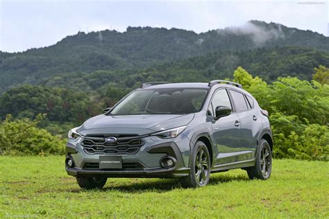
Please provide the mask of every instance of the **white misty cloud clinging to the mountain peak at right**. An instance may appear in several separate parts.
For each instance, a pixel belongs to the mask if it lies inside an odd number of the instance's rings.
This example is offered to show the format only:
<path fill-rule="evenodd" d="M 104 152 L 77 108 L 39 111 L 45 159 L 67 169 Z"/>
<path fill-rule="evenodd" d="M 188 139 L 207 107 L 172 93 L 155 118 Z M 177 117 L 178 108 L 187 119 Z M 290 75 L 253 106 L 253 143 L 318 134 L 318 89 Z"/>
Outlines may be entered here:
<path fill-rule="evenodd" d="M 280 24 L 260 26 L 254 24 L 253 21 L 248 21 L 242 26 L 231 26 L 219 29 L 217 33 L 221 35 L 249 36 L 257 46 L 262 46 L 268 40 L 282 39 L 285 37 Z"/>

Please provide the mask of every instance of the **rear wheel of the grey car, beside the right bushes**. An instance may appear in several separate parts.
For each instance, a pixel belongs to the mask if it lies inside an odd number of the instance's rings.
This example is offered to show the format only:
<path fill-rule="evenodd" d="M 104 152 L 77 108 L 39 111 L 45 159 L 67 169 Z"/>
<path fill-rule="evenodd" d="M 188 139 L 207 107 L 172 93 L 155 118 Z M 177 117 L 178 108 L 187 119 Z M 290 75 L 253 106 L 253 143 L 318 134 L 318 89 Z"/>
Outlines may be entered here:
<path fill-rule="evenodd" d="M 249 179 L 269 179 L 272 170 L 272 152 L 267 140 L 258 146 L 255 166 L 246 168 Z"/>

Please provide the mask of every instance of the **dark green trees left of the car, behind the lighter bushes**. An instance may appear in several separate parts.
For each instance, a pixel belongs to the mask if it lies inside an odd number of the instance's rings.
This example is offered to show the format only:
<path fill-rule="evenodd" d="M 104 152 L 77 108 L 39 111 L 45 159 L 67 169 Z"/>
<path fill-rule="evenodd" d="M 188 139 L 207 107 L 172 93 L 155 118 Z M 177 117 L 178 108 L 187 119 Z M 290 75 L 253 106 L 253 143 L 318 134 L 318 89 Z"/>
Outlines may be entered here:
<path fill-rule="evenodd" d="M 99 114 L 102 108 L 98 100 L 78 91 L 32 85 L 6 91 L 0 97 L 0 105 L 1 115 L 33 119 L 37 114 L 47 113 L 49 121 L 75 125 Z"/>

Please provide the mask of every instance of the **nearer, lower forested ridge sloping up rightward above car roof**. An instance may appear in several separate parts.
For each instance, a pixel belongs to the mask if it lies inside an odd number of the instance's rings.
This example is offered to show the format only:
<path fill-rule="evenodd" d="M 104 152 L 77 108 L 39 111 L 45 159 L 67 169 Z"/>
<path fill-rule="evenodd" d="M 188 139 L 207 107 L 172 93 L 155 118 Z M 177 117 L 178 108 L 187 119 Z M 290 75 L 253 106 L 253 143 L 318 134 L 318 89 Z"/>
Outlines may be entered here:
<path fill-rule="evenodd" d="M 246 51 L 217 51 L 207 55 L 153 64 L 130 71 L 98 70 L 92 73 L 58 74 L 40 85 L 99 92 L 108 87 L 138 87 L 146 81 L 200 82 L 232 78 L 237 67 L 267 82 L 292 76 L 312 79 L 314 67 L 329 66 L 329 53 L 299 46 L 275 46 Z"/>

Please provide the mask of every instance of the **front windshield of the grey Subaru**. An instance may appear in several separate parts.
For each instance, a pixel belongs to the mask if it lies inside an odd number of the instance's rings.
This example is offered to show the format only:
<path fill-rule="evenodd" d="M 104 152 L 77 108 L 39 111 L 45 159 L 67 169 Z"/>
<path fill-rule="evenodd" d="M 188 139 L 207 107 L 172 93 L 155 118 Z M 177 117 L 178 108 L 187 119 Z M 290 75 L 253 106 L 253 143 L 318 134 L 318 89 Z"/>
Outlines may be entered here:
<path fill-rule="evenodd" d="M 207 89 L 140 89 L 133 91 L 110 112 L 130 114 L 189 114 L 199 112 Z"/>

